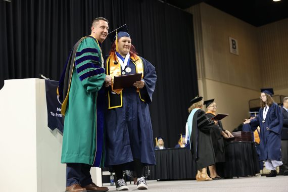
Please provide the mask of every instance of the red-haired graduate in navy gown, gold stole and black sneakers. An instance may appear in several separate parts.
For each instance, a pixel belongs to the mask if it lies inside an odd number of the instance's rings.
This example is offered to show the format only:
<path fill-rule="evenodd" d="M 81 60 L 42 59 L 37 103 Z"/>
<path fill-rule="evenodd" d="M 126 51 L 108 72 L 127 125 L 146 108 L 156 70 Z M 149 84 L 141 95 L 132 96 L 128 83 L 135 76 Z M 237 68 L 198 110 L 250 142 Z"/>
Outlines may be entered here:
<path fill-rule="evenodd" d="M 139 57 L 131 44 L 126 25 L 109 33 L 112 47 L 105 61 L 106 74 L 114 76 L 142 73 L 133 86 L 114 89 L 107 83 L 106 166 L 112 166 L 117 177 L 116 189 L 127 190 L 124 170 L 135 170 L 137 189 L 147 189 L 143 176 L 145 165 L 155 165 L 149 104 L 156 84 L 155 67 Z M 111 86 L 110 86 L 111 85 Z"/>

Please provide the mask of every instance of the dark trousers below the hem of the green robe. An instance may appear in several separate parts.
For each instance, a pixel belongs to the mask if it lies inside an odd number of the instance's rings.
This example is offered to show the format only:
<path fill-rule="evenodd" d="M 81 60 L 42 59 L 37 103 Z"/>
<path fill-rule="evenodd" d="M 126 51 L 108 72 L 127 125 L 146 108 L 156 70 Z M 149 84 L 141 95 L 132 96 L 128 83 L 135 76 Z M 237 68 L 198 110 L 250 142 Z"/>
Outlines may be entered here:
<path fill-rule="evenodd" d="M 66 186 L 72 184 L 80 184 L 86 186 L 92 183 L 90 175 L 91 166 L 83 163 L 67 163 L 66 164 Z"/>

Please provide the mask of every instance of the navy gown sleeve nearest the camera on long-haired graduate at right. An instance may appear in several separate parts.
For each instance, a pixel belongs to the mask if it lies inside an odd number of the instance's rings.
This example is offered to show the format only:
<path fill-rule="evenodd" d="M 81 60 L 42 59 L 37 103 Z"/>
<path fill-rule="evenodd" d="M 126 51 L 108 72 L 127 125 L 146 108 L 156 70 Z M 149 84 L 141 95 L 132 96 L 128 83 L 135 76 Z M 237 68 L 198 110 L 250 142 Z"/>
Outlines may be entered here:
<path fill-rule="evenodd" d="M 272 121 L 270 121 L 268 128 L 274 133 L 281 134 L 281 129 L 283 125 L 282 112 L 280 111 L 280 107 L 277 104 L 273 104 L 271 108 L 272 109 L 270 112 L 270 118 L 272 119 Z"/>

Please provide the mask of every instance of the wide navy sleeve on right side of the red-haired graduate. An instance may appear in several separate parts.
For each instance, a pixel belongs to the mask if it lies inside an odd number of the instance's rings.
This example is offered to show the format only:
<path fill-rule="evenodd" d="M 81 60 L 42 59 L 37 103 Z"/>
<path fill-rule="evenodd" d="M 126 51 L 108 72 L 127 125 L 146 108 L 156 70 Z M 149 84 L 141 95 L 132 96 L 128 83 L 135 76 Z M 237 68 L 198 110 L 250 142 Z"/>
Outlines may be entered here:
<path fill-rule="evenodd" d="M 156 71 L 155 67 L 146 59 L 141 58 L 144 66 L 144 77 L 145 86 L 140 89 L 141 97 L 148 103 L 152 103 L 152 94 L 155 90 L 156 85 Z"/>

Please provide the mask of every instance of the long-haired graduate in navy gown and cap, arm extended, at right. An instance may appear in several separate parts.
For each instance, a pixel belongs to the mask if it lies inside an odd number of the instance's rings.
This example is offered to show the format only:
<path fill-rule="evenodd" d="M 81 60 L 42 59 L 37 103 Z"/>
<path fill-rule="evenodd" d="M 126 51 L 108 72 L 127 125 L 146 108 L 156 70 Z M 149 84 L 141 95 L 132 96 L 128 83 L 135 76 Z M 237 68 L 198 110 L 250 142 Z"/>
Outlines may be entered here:
<path fill-rule="evenodd" d="M 260 126 L 260 161 L 265 161 L 265 168 L 271 170 L 266 177 L 277 175 L 277 166 L 282 165 L 281 161 L 281 129 L 283 124 L 280 107 L 273 101 L 272 88 L 261 89 L 259 115 L 255 119 L 245 119 L 251 123 L 251 127 Z M 255 131 L 255 130 L 253 130 Z"/>

